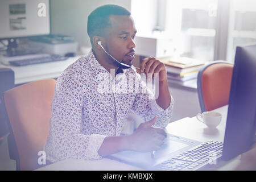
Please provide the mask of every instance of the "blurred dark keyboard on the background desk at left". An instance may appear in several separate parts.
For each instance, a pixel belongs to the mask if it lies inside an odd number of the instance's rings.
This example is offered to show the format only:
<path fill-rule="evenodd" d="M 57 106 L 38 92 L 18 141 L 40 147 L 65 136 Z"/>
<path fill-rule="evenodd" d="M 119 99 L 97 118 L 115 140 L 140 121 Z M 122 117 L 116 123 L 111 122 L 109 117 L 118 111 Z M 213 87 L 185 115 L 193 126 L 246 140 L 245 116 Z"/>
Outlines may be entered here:
<path fill-rule="evenodd" d="M 68 57 L 60 56 L 60 55 L 47 55 L 47 56 L 40 56 L 40 57 L 33 57 L 29 59 L 19 59 L 9 61 L 10 65 L 14 65 L 16 67 L 31 65 L 31 64 L 40 64 L 40 63 L 49 63 L 54 61 L 63 61 L 67 60 Z"/>

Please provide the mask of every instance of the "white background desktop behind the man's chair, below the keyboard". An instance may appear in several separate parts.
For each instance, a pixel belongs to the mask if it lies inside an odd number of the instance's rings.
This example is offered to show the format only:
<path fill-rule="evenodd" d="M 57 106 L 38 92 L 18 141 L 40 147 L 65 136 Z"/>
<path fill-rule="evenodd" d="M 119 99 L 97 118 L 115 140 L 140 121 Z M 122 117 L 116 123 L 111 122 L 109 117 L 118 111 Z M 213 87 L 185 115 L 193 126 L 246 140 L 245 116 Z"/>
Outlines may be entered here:
<path fill-rule="evenodd" d="M 26 65 L 23 67 L 14 67 L 11 65 L 3 65 L 0 63 L 0 67 L 13 69 L 14 82 L 16 85 L 36 80 L 43 80 L 47 78 L 57 78 L 69 65 L 79 59 L 79 57 L 80 56 L 69 57 L 67 60 L 64 61 Z"/>

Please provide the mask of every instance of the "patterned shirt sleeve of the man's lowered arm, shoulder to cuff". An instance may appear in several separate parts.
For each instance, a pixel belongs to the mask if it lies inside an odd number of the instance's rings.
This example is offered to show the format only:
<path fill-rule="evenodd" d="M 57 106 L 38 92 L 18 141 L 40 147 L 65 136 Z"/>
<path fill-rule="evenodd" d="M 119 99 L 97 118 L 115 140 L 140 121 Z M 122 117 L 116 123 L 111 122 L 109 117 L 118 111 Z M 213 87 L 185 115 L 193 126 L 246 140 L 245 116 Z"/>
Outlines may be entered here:
<path fill-rule="evenodd" d="M 86 102 L 82 81 L 73 73 L 60 77 L 52 101 L 51 124 L 44 150 L 47 159 L 101 159 L 98 149 L 105 135 L 81 133 L 82 106 Z"/>

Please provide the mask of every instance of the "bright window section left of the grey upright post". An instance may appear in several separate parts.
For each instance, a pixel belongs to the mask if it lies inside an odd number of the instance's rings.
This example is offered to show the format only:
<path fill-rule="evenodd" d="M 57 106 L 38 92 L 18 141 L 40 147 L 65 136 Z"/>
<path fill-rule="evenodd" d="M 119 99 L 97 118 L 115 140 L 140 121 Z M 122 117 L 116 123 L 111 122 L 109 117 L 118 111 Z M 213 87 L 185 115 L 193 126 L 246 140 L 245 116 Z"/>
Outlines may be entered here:
<path fill-rule="evenodd" d="M 166 3 L 168 13 L 165 31 L 175 35 L 177 55 L 213 60 L 217 0 L 171 0 Z"/>

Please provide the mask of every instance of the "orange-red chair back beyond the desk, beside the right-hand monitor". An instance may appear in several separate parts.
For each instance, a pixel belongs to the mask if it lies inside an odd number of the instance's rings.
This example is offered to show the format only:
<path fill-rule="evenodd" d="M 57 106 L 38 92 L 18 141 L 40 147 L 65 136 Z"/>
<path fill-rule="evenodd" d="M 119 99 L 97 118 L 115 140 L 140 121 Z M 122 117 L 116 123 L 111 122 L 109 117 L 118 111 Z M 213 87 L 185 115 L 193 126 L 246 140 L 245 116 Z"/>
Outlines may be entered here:
<path fill-rule="evenodd" d="M 214 61 L 200 69 L 197 93 L 202 113 L 228 104 L 232 72 L 233 64 L 226 61 Z"/>

